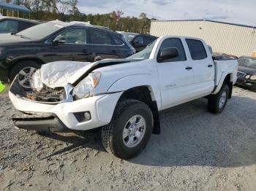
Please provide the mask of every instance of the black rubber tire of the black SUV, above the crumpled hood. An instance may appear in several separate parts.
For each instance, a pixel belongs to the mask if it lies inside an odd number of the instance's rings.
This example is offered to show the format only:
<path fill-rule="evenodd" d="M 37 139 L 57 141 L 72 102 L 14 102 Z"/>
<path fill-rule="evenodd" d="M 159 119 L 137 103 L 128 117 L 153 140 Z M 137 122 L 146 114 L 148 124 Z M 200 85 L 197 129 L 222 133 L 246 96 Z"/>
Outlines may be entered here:
<path fill-rule="evenodd" d="M 39 69 L 41 68 L 41 65 L 35 61 L 20 61 L 12 67 L 12 70 L 10 71 L 10 80 L 12 81 L 15 79 L 17 74 L 26 67 L 34 67 L 35 69 Z"/>

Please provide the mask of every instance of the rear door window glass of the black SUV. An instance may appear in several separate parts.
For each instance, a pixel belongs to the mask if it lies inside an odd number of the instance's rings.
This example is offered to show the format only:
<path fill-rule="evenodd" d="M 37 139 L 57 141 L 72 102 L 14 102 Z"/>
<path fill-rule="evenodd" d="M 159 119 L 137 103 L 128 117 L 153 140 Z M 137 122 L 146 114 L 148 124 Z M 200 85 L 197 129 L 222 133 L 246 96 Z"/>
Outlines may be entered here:
<path fill-rule="evenodd" d="M 99 30 L 91 29 L 91 44 L 112 44 L 110 35 Z"/>

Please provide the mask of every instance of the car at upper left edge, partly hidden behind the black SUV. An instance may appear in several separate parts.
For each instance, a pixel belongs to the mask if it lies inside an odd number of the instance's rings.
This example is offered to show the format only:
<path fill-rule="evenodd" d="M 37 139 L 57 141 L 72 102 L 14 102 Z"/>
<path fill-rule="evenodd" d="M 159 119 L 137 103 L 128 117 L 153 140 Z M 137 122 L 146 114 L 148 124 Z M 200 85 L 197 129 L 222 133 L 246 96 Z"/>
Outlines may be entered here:
<path fill-rule="evenodd" d="M 31 26 L 36 26 L 39 23 L 40 22 L 37 20 L 0 16 L 0 34 L 18 33 Z"/>

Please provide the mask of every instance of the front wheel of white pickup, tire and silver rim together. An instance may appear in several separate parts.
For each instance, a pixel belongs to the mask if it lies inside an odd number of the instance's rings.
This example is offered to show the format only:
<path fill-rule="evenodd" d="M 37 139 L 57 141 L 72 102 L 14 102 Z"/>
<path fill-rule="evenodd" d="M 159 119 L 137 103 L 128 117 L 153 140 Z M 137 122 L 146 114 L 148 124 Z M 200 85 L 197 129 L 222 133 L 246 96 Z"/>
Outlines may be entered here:
<path fill-rule="evenodd" d="M 141 101 L 118 102 L 110 124 L 102 128 L 105 149 L 121 159 L 138 155 L 148 143 L 153 130 L 151 109 Z"/>

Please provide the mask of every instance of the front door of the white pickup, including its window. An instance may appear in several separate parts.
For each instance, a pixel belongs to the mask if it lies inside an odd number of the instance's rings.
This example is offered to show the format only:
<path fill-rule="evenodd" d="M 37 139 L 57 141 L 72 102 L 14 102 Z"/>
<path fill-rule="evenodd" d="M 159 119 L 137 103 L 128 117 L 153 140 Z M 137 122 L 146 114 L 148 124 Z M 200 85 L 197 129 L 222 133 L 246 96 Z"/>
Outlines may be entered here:
<path fill-rule="evenodd" d="M 191 63 L 187 61 L 184 43 L 183 39 L 168 38 L 164 39 L 159 47 L 158 56 L 161 50 L 167 47 L 175 47 L 178 50 L 177 58 L 157 63 L 162 109 L 192 98 L 190 93 L 193 89 L 193 69 Z"/>

